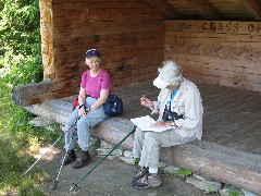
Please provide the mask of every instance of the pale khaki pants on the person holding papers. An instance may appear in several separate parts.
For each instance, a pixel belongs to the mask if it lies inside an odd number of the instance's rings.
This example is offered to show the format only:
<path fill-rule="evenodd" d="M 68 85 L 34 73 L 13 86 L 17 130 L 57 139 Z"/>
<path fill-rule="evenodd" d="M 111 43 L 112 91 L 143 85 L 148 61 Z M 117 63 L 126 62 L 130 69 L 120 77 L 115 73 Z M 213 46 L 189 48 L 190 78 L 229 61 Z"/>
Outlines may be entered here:
<path fill-rule="evenodd" d="M 175 130 L 164 132 L 144 132 L 136 128 L 134 158 L 140 158 L 140 167 L 157 169 L 159 167 L 160 147 L 171 147 L 196 140 L 196 136 L 182 137 L 175 133 Z"/>

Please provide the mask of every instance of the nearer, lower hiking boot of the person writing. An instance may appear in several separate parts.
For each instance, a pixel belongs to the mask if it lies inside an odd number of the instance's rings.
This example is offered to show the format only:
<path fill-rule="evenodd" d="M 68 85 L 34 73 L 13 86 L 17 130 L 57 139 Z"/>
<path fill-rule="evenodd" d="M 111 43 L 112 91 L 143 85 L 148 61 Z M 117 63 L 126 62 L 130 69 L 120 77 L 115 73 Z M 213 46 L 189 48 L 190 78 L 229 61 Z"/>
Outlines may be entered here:
<path fill-rule="evenodd" d="M 142 176 L 141 179 L 133 181 L 132 185 L 133 185 L 133 187 L 135 187 L 137 189 L 157 187 L 157 186 L 161 185 L 161 180 L 158 175 L 154 176 L 151 173 L 148 173 L 145 176 Z"/>

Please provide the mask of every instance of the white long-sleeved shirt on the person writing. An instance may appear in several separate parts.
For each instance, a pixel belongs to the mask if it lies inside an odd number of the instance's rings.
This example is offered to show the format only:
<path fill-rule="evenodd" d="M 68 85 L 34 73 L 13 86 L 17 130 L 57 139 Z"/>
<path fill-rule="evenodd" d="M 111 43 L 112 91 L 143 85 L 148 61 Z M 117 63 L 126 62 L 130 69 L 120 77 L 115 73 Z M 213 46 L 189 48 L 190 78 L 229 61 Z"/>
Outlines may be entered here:
<path fill-rule="evenodd" d="M 159 120 L 162 119 L 166 101 L 171 99 L 172 90 L 161 89 L 158 101 L 153 101 L 154 109 L 152 113 L 159 113 Z M 183 114 L 184 119 L 175 120 L 177 125 L 174 131 L 182 137 L 196 137 L 200 140 L 202 137 L 202 118 L 203 106 L 202 99 L 197 86 L 184 78 L 177 94 L 171 102 L 171 111 L 178 115 Z"/>

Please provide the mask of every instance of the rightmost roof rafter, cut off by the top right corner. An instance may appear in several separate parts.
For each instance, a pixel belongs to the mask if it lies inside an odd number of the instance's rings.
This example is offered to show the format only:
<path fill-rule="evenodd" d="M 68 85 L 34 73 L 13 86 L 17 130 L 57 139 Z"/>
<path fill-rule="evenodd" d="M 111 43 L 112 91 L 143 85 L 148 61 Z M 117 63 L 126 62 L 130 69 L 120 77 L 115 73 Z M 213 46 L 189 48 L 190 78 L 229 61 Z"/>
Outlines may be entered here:
<path fill-rule="evenodd" d="M 260 0 L 241 0 L 246 9 L 252 14 L 256 21 L 261 21 L 261 1 Z"/>

